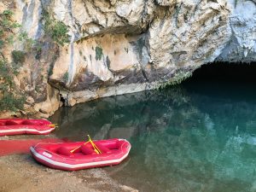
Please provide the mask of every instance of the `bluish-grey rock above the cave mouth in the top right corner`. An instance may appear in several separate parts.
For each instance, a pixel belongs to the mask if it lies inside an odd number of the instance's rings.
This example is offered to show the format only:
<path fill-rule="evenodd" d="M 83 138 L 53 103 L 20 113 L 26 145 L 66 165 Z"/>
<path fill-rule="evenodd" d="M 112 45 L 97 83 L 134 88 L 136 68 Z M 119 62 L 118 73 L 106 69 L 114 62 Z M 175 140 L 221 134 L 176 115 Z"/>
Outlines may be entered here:
<path fill-rule="evenodd" d="M 218 61 L 256 61 L 256 4 L 238 1 L 230 15 L 232 36 Z"/>

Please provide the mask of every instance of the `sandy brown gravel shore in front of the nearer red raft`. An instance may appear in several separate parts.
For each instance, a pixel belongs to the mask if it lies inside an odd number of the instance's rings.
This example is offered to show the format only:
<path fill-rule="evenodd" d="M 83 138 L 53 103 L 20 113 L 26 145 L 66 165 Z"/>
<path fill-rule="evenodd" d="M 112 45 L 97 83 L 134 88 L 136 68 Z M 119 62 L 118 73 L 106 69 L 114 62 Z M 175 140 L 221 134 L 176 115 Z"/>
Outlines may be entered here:
<path fill-rule="evenodd" d="M 136 192 L 137 190 L 117 183 L 102 168 L 64 172 L 38 164 L 30 154 L 12 154 L 0 157 L 0 191 Z"/>

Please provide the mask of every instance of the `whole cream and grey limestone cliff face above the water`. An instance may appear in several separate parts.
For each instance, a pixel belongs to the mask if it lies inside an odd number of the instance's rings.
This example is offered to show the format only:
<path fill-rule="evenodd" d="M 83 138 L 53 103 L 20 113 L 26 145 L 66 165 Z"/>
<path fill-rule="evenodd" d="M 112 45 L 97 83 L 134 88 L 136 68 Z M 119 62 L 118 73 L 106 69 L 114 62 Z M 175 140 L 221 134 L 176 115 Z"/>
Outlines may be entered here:
<path fill-rule="evenodd" d="M 17 79 L 24 113 L 173 84 L 207 62 L 256 60 L 254 1 L 14 0 L 0 9 L 14 9 L 43 44 Z M 49 40 L 43 10 L 68 26 L 70 44 Z"/>

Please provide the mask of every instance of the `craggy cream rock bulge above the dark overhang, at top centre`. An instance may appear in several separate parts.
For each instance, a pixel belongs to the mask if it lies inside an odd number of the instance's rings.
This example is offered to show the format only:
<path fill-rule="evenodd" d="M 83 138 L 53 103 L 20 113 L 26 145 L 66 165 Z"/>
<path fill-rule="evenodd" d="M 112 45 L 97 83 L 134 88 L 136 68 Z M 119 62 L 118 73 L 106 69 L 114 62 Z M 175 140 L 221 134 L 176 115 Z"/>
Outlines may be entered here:
<path fill-rule="evenodd" d="M 46 1 L 43 1 L 46 2 Z M 141 33 L 146 31 L 153 19 L 154 2 L 74 0 L 51 3 L 53 15 L 70 26 L 75 33 L 75 40 L 106 33 Z M 56 6 L 61 4 L 61 6 Z M 44 3 L 45 9 L 48 3 Z"/>

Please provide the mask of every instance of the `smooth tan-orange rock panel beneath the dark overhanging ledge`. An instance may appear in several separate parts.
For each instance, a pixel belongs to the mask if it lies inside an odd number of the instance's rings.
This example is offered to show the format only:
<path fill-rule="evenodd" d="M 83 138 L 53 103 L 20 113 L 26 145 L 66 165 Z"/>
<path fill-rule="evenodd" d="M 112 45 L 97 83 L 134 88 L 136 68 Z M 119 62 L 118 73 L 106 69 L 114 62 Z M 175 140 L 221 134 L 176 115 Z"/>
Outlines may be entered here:
<path fill-rule="evenodd" d="M 128 73 L 139 70 L 137 53 L 130 43 L 136 37 L 132 38 L 134 37 L 125 38 L 124 34 L 106 34 L 74 43 L 73 62 L 76 71 L 71 84 L 64 77 L 65 73 L 72 73 L 68 71 L 69 49 L 61 49 L 50 80 L 60 81 L 73 91 L 96 90 L 104 82 L 106 86 L 114 84 Z"/>

